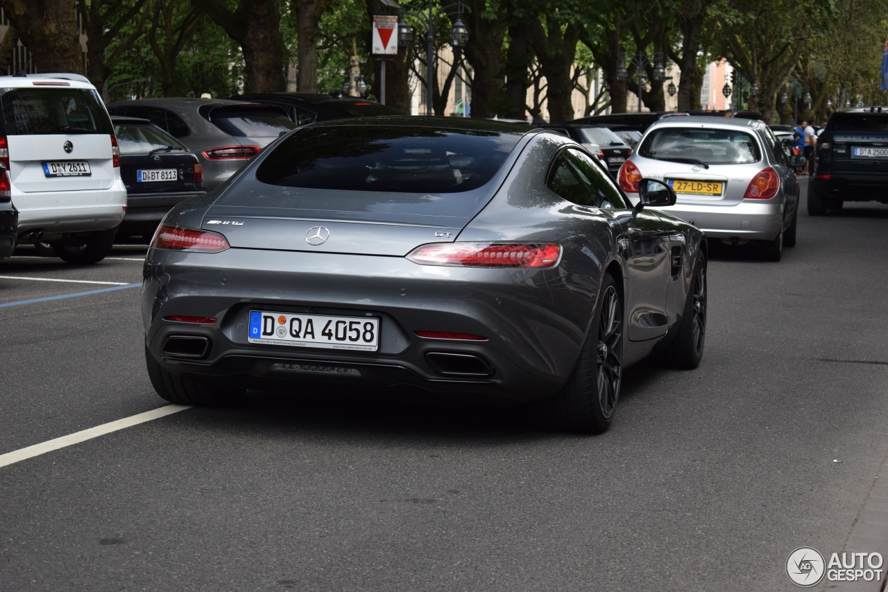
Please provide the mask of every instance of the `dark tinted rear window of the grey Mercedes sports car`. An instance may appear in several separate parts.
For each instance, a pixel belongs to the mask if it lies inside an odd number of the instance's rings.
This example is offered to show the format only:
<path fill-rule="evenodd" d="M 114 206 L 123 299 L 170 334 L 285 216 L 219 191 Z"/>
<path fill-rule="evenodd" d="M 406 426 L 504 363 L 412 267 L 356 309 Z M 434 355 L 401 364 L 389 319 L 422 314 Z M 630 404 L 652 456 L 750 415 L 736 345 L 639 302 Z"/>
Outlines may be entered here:
<path fill-rule="evenodd" d="M 256 178 L 294 188 L 457 193 L 491 180 L 518 134 L 354 125 L 300 129 L 259 165 Z"/>

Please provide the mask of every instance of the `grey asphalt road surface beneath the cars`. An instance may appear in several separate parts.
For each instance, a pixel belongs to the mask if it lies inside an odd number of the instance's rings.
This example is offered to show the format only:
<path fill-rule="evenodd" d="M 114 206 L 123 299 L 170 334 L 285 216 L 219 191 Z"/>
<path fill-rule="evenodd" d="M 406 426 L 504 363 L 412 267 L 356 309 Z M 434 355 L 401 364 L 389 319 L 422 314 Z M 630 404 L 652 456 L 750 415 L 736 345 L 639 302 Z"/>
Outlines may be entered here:
<path fill-rule="evenodd" d="M 714 249 L 702 365 L 630 369 L 603 436 L 311 389 L 0 467 L 0 590 L 793 590 L 795 548 L 886 553 L 886 229 L 803 204 L 780 263 Z M 0 262 L 0 455 L 165 406 L 143 253 Z"/>

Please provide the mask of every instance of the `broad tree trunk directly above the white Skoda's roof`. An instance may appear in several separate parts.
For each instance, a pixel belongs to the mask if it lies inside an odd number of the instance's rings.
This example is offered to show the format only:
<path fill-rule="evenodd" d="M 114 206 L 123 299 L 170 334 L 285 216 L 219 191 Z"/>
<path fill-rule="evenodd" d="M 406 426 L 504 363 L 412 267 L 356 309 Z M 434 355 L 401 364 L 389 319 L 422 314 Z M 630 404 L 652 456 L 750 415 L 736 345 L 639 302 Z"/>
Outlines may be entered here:
<path fill-rule="evenodd" d="M 76 0 L 0 0 L 38 72 L 83 73 Z M 39 51 L 36 51 L 39 48 Z"/>

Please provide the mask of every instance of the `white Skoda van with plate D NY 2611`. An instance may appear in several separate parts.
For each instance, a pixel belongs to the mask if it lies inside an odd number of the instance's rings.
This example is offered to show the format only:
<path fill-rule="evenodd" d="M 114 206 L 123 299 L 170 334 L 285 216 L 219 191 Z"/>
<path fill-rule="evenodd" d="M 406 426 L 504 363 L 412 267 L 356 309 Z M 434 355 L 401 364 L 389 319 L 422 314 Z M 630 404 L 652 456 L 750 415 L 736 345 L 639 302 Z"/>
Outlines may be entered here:
<path fill-rule="evenodd" d="M 18 243 L 68 263 L 103 260 L 126 212 L 120 150 L 85 76 L 0 76 L 0 163 L 19 210 Z"/>

